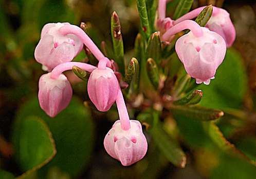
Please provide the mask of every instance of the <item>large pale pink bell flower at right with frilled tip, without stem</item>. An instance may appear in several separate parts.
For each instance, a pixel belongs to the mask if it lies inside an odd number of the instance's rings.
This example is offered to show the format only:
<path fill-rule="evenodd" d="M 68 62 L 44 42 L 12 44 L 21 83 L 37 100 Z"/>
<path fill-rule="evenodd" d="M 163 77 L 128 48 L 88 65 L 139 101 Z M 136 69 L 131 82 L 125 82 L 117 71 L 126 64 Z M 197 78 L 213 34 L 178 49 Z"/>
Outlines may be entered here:
<path fill-rule="evenodd" d="M 175 45 L 180 61 L 196 83 L 209 84 L 226 54 L 226 42 L 221 35 L 201 27 L 204 35 L 195 37 L 190 31 Z"/>

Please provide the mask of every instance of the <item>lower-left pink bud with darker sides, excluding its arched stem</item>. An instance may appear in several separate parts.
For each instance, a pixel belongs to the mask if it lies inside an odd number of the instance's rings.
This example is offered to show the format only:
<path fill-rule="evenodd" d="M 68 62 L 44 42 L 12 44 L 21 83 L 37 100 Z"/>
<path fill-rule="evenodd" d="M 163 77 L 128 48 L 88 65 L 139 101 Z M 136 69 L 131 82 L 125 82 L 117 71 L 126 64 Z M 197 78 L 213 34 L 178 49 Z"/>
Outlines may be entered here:
<path fill-rule="evenodd" d="M 72 97 L 72 88 L 66 76 L 61 74 L 56 80 L 50 78 L 51 73 L 39 79 L 39 103 L 50 117 L 55 117 L 65 109 Z"/>

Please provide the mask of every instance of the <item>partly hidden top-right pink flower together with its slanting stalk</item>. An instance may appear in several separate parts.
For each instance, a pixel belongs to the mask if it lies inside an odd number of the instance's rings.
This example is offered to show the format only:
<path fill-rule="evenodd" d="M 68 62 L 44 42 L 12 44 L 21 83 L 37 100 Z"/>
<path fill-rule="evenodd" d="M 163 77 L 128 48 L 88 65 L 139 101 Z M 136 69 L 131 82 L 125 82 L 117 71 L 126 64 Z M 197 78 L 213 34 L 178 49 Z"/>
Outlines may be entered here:
<path fill-rule="evenodd" d="M 173 25 L 197 17 L 204 8 L 205 7 L 197 8 L 184 16 L 181 16 L 173 22 Z M 224 38 L 227 48 L 232 46 L 235 40 L 235 28 L 230 19 L 230 15 L 226 10 L 213 6 L 212 16 L 206 24 L 206 27 L 208 27 L 210 31 L 220 34 Z"/>

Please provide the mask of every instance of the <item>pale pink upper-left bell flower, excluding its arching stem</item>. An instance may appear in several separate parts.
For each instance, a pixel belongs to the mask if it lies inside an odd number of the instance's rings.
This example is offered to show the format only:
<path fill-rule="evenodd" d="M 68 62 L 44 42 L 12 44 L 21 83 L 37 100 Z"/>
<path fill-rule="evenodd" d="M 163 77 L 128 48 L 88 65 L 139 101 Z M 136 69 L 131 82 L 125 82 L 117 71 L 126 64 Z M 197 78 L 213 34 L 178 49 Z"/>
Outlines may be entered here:
<path fill-rule="evenodd" d="M 63 36 L 59 29 L 70 26 L 69 23 L 46 24 L 41 32 L 41 39 L 34 51 L 35 60 L 51 70 L 63 62 L 71 61 L 83 49 L 83 42 L 74 34 Z"/>

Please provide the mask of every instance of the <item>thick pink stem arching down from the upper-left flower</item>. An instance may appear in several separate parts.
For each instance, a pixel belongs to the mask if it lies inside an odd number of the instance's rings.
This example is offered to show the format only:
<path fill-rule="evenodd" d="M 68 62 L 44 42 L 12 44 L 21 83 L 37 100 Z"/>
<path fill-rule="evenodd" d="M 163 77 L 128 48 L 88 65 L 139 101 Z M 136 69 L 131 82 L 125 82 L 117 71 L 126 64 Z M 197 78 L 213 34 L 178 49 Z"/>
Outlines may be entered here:
<path fill-rule="evenodd" d="M 94 54 L 94 56 L 100 60 L 101 58 L 105 57 L 102 52 L 98 49 L 96 44 L 93 42 L 90 37 L 79 27 L 75 25 L 67 25 L 63 26 L 59 29 L 60 34 L 67 35 L 67 34 L 74 34 L 78 36 L 82 40 L 82 42 L 85 44 L 85 46 Z"/>

